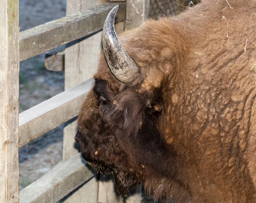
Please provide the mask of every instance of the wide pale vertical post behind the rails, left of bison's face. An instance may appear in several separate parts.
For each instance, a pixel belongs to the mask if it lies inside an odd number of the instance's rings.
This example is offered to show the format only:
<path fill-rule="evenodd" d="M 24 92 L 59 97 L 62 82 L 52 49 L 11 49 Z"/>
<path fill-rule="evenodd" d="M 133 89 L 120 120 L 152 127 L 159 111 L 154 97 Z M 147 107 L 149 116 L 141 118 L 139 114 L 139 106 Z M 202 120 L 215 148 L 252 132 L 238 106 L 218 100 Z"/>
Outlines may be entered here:
<path fill-rule="evenodd" d="M 83 11 L 100 4 L 100 0 L 67 0 L 67 15 Z M 96 72 L 101 51 L 101 32 L 94 34 L 65 50 L 65 90 L 90 79 Z M 76 121 L 64 128 L 63 160 L 77 153 L 74 136 Z M 96 203 L 98 200 L 98 181 L 91 179 L 71 195 L 65 203 Z"/>

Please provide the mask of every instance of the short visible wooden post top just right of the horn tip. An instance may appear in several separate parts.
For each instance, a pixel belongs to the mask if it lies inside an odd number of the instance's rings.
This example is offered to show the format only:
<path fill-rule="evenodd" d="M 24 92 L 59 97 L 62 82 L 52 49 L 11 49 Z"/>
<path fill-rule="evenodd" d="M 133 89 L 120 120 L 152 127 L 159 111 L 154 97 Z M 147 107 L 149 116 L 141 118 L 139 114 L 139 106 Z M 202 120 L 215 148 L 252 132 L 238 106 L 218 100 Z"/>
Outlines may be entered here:
<path fill-rule="evenodd" d="M 126 1 L 126 30 L 138 28 L 149 14 L 150 0 Z"/>

